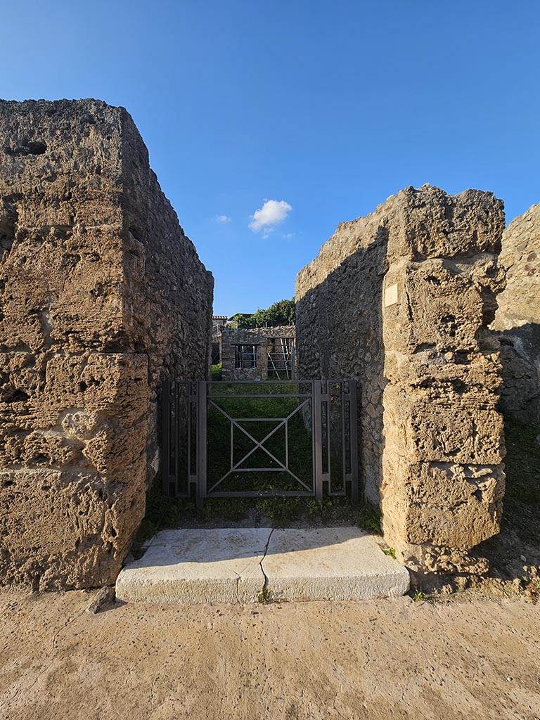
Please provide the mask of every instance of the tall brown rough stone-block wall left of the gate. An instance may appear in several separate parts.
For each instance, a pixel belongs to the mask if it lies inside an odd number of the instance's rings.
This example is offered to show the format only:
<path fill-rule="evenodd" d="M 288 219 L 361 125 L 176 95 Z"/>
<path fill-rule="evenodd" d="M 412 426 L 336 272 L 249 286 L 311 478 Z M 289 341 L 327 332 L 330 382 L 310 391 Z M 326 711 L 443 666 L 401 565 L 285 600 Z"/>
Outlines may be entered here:
<path fill-rule="evenodd" d="M 1 582 L 114 581 L 158 463 L 158 382 L 204 377 L 211 307 L 125 109 L 0 102 Z"/>

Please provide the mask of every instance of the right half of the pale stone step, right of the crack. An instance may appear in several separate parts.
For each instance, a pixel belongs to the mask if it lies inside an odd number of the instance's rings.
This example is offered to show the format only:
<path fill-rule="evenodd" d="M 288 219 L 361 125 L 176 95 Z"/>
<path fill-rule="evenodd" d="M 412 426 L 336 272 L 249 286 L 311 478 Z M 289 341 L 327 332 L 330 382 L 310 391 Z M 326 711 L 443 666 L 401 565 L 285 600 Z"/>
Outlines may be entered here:
<path fill-rule="evenodd" d="M 275 601 L 392 598 L 409 589 L 405 567 L 354 527 L 275 529 L 263 569 Z"/>

